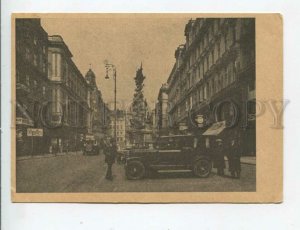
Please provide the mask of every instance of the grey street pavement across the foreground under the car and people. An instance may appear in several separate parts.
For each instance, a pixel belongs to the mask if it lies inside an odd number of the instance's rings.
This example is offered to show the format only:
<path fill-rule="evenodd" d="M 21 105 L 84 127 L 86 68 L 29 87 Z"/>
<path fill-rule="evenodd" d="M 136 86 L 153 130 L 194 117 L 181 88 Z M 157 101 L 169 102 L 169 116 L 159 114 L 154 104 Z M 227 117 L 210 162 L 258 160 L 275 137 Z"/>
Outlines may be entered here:
<path fill-rule="evenodd" d="M 164 172 L 138 181 L 127 180 L 124 167 L 113 165 L 113 181 L 105 179 L 104 156 L 80 152 L 17 160 L 17 192 L 227 192 L 255 191 L 255 164 L 242 164 L 241 179 L 196 178 L 190 172 Z M 229 175 L 226 171 L 226 175 Z"/>

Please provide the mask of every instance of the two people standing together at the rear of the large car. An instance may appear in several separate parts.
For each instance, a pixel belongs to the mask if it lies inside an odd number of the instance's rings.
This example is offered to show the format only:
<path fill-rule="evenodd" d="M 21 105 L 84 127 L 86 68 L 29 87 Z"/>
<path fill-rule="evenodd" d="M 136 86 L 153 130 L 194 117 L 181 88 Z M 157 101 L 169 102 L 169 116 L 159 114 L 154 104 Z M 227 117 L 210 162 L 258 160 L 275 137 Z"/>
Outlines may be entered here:
<path fill-rule="evenodd" d="M 216 140 L 216 147 L 213 154 L 213 165 L 217 169 L 219 176 L 224 176 L 226 168 L 225 159 L 227 157 L 229 164 L 229 172 L 233 178 L 240 178 L 241 160 L 240 150 L 235 139 L 231 140 L 227 146 L 224 146 L 222 139 Z"/>

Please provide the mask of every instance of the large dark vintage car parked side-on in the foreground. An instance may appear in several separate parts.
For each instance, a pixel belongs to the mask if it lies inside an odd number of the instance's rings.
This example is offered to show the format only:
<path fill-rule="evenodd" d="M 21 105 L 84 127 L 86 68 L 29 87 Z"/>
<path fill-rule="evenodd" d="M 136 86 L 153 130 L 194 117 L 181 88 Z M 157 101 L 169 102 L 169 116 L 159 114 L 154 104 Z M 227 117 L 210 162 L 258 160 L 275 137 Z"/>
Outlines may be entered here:
<path fill-rule="evenodd" d="M 201 142 L 192 135 L 161 136 L 152 149 L 132 149 L 125 159 L 126 177 L 137 180 L 164 170 L 190 170 L 197 177 L 208 177 L 212 162 Z"/>

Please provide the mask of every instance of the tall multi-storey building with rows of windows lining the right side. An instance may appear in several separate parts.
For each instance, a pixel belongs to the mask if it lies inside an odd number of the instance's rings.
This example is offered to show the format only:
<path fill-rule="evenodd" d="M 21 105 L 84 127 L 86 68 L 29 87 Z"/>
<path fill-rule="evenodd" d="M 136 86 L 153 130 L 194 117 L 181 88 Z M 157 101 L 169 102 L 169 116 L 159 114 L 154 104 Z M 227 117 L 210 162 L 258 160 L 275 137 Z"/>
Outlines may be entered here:
<path fill-rule="evenodd" d="M 255 153 L 255 19 L 197 18 L 184 33 L 167 81 L 171 128 L 201 135 L 225 121 L 225 141 Z"/>

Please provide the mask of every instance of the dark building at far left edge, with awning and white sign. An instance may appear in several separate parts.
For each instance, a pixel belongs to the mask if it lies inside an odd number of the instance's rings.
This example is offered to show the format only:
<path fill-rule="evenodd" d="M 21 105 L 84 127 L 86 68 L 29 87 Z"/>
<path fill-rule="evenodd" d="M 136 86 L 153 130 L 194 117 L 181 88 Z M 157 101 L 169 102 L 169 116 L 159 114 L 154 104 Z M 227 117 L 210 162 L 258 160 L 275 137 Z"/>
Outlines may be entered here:
<path fill-rule="evenodd" d="M 16 19 L 15 23 L 16 147 L 18 155 L 30 155 L 46 151 L 40 108 L 48 99 L 48 34 L 40 19 Z M 37 136 L 30 134 L 32 129 Z"/>

